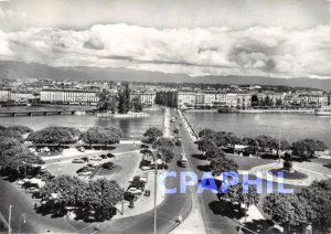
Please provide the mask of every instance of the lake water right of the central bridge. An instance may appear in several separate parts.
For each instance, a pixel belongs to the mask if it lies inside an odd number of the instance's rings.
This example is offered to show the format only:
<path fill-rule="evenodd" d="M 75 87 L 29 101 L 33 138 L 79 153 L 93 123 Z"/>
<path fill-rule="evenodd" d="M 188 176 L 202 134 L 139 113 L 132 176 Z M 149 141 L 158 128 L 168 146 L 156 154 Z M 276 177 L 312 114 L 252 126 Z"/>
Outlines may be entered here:
<path fill-rule="evenodd" d="M 269 135 L 290 142 L 303 138 L 314 138 L 325 142 L 331 149 L 331 116 L 310 114 L 220 114 L 185 113 L 199 132 L 203 128 L 232 131 L 241 137 Z"/>

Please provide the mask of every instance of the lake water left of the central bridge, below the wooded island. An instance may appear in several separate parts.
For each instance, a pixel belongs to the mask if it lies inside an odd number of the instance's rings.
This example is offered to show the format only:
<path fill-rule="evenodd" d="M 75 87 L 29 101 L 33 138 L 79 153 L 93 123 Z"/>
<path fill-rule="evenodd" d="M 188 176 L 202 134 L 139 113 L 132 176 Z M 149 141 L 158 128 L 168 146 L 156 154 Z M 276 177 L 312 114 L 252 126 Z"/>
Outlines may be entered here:
<path fill-rule="evenodd" d="M 18 108 L 18 107 L 14 107 Z M 26 107 L 23 107 L 26 109 Z M 2 109 L 2 108 L 1 108 Z M 33 107 L 33 109 L 36 109 Z M 50 108 L 49 108 L 50 109 Z M 4 110 L 4 109 L 2 109 Z M 118 127 L 124 132 L 124 139 L 140 139 L 149 127 L 163 126 L 163 110 L 148 111 L 149 117 L 143 118 L 102 118 L 94 115 L 74 116 L 18 116 L 18 117 L 0 117 L 0 125 L 7 127 L 11 125 L 24 125 L 33 130 L 39 130 L 49 126 L 76 127 L 79 130 L 86 130 L 89 127 Z"/>

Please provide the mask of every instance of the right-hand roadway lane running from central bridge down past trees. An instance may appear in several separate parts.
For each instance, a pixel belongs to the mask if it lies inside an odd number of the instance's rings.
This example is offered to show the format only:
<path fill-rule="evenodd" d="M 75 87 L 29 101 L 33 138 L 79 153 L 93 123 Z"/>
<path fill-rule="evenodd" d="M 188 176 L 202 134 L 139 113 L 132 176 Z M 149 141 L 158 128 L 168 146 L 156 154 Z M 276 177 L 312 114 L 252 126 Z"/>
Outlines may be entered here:
<path fill-rule="evenodd" d="M 178 116 L 178 115 L 177 115 Z M 201 178 L 203 171 L 197 169 L 201 166 L 206 166 L 205 160 L 197 159 L 196 155 L 201 152 L 197 150 L 197 146 L 191 140 L 188 130 L 185 129 L 182 119 L 179 117 L 179 121 L 182 124 L 183 127 L 180 128 L 180 135 L 182 137 L 183 149 L 188 155 L 189 163 L 193 168 L 193 171 L 197 174 L 197 178 Z M 195 189 L 197 185 L 195 185 Z M 196 190 L 195 190 L 196 191 Z M 204 191 L 202 194 L 196 194 L 202 217 L 204 220 L 204 224 L 206 227 L 207 233 L 237 233 L 237 224 L 235 221 L 227 216 L 222 216 L 221 214 L 214 213 L 211 209 L 211 204 L 215 204 L 218 202 L 216 194 L 212 193 L 211 191 Z M 214 202 L 214 203 L 213 203 Z"/>

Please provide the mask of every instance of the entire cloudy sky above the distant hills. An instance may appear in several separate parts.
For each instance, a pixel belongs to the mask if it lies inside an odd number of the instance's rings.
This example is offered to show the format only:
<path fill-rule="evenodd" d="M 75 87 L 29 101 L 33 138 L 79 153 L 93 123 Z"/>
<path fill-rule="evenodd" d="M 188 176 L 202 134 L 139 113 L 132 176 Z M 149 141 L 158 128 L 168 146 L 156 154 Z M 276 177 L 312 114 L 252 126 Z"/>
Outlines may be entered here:
<path fill-rule="evenodd" d="M 330 78 L 325 0 L 0 0 L 0 60 Z"/>

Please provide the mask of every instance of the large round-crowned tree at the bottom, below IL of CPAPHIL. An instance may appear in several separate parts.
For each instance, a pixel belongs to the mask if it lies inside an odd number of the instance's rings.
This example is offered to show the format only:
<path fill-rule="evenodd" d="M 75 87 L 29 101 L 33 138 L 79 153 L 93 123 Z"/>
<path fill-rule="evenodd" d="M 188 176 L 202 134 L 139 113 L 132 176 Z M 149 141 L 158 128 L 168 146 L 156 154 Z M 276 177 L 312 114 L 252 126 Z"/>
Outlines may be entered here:
<path fill-rule="evenodd" d="M 265 198 L 263 204 L 264 211 L 271 219 L 285 227 L 285 233 L 290 232 L 290 226 L 308 224 L 308 211 L 311 205 L 303 196 L 291 194 L 273 193 Z"/>

